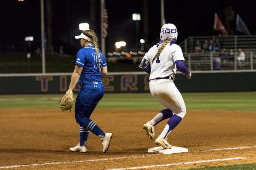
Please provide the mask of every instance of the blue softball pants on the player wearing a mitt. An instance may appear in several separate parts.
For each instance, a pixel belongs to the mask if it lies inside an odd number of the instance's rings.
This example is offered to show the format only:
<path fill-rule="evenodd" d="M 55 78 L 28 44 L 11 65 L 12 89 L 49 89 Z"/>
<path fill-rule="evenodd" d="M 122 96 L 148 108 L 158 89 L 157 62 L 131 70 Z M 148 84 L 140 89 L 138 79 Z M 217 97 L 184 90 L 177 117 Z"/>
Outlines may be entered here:
<path fill-rule="evenodd" d="M 75 118 L 76 122 L 83 125 L 85 118 L 90 118 L 95 107 L 104 95 L 104 86 L 101 82 L 98 84 L 84 84 L 76 97 Z"/>

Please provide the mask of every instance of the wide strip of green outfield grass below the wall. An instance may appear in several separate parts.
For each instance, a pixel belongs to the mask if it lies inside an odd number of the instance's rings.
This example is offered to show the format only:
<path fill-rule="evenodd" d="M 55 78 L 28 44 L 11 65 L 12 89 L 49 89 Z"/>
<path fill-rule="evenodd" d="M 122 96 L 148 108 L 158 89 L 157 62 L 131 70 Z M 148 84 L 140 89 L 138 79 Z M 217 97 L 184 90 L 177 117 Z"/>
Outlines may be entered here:
<path fill-rule="evenodd" d="M 58 108 L 62 94 L 0 95 L 0 108 Z M 256 110 L 256 92 L 182 93 L 187 110 Z M 76 97 L 76 95 L 75 95 Z M 150 93 L 105 94 L 97 108 L 162 109 Z"/>

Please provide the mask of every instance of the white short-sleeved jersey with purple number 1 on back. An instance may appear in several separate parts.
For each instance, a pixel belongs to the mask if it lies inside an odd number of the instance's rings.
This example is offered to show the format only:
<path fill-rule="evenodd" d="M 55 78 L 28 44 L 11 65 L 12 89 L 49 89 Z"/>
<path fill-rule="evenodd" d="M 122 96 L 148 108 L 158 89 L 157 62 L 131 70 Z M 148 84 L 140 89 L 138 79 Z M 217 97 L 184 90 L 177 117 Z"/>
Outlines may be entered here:
<path fill-rule="evenodd" d="M 180 46 L 177 44 L 170 45 L 169 43 L 164 47 L 159 57 L 157 57 L 152 63 L 152 59 L 161 46 L 162 44 L 159 44 L 159 46 L 152 46 L 151 49 L 149 49 L 149 51 L 146 52 L 145 56 L 143 57 L 143 59 L 150 61 L 151 64 L 149 80 L 155 79 L 157 77 L 163 78 L 166 76 L 172 76 L 174 79 L 177 70 L 175 61 L 185 60 Z"/>

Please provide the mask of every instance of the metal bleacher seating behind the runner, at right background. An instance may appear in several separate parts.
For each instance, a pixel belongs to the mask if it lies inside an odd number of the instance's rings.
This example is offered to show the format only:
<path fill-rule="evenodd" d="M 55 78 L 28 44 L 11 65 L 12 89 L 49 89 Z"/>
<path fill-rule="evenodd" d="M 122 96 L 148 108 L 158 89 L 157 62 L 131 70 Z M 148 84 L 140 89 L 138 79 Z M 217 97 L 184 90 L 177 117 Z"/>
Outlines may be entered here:
<path fill-rule="evenodd" d="M 215 41 L 217 38 L 220 43 L 220 49 L 218 51 L 195 51 L 196 41 L 199 41 L 201 45 L 203 45 L 205 40 L 209 42 L 209 40 Z M 256 69 L 256 35 L 188 37 L 179 45 L 185 57 L 185 64 L 190 68 L 190 70 Z M 239 48 L 245 52 L 245 61 L 238 62 L 238 60 L 235 60 Z M 233 49 L 235 57 L 227 57 L 227 60 L 224 62 L 224 59 L 219 57 L 221 49 L 224 49 L 225 54 L 228 54 L 230 49 Z"/>

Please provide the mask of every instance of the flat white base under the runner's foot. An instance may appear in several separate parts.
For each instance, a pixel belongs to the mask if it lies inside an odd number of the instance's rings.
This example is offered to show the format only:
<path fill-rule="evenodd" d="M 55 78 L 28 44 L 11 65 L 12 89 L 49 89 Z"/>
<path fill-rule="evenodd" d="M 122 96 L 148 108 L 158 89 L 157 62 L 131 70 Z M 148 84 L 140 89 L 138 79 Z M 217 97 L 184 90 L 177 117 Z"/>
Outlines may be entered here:
<path fill-rule="evenodd" d="M 162 153 L 162 154 L 175 154 L 188 152 L 188 149 L 177 146 L 172 146 L 171 149 L 164 149 L 162 146 L 147 149 L 148 153 Z"/>

